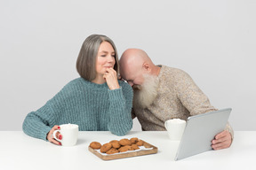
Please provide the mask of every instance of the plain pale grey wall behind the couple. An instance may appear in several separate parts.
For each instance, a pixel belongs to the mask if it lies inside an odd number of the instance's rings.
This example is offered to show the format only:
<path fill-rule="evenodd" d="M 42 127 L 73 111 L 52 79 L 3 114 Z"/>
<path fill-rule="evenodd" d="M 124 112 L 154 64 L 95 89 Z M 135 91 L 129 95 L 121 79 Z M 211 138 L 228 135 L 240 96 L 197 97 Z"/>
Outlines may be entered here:
<path fill-rule="evenodd" d="M 119 56 L 146 50 L 155 64 L 191 75 L 235 130 L 256 130 L 256 2 L 253 0 L 0 1 L 0 130 L 78 77 L 88 35 L 108 35 Z M 134 120 L 133 130 L 140 130 Z"/>

